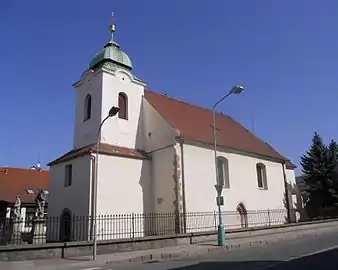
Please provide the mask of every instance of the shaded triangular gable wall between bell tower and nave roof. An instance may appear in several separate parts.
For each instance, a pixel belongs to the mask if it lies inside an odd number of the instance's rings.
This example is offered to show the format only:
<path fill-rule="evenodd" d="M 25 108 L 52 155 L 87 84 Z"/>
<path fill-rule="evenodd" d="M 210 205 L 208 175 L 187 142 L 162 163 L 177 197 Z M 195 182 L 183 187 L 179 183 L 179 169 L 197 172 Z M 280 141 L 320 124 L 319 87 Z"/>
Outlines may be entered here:
<path fill-rule="evenodd" d="M 142 101 L 142 145 L 146 152 L 175 145 L 176 130 L 149 104 L 146 98 Z"/>

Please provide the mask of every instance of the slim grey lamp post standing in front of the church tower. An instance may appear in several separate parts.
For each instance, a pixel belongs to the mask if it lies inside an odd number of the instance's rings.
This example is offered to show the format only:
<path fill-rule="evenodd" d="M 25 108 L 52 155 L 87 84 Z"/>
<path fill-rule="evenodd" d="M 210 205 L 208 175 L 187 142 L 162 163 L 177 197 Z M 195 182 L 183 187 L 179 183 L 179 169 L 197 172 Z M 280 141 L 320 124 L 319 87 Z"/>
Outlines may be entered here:
<path fill-rule="evenodd" d="M 93 213 L 92 213 L 92 232 L 93 232 L 93 260 L 96 260 L 97 255 L 97 229 L 96 229 L 96 218 L 97 218 L 97 180 L 98 180 L 98 171 L 99 171 L 99 148 L 100 148 L 100 135 L 101 135 L 101 128 L 106 122 L 106 120 L 110 117 L 114 117 L 118 112 L 120 111 L 120 108 L 118 107 L 111 107 L 111 109 L 108 112 L 108 115 L 106 118 L 103 119 L 99 126 L 99 130 L 97 131 L 97 138 L 96 138 L 96 155 L 95 155 L 95 177 L 94 177 L 94 183 L 93 183 Z"/>

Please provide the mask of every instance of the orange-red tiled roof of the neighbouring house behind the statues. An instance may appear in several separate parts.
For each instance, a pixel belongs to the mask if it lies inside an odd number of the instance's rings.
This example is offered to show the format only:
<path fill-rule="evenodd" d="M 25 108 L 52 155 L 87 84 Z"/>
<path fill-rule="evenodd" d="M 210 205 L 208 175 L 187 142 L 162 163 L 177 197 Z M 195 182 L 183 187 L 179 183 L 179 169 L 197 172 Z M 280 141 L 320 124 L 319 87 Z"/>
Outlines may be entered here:
<path fill-rule="evenodd" d="M 49 188 L 49 171 L 0 167 L 0 201 L 14 202 L 19 196 L 22 203 L 33 203 L 35 195 L 26 189 L 41 188 Z"/>

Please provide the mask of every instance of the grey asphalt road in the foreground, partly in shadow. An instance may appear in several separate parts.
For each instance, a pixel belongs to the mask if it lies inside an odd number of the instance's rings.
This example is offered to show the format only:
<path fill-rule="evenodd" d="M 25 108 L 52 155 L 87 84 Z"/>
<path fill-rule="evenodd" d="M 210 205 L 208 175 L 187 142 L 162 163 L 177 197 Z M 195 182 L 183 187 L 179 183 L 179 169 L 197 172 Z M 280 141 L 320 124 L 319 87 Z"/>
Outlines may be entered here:
<path fill-rule="evenodd" d="M 114 270 L 333 270 L 337 269 L 338 233 L 306 236 L 264 246 L 220 252 L 199 258 L 144 264 L 114 264 Z"/>

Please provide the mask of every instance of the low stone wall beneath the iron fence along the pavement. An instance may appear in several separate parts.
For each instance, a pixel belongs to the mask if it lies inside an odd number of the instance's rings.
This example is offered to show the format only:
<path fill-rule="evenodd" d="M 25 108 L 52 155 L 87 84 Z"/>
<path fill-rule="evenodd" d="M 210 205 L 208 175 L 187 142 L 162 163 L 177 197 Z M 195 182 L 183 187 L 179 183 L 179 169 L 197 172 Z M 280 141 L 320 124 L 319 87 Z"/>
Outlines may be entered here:
<path fill-rule="evenodd" d="M 326 220 L 315 222 L 304 222 L 296 224 L 279 225 L 275 227 L 261 227 L 250 229 L 235 229 L 226 231 L 227 239 L 248 238 L 260 235 L 288 233 L 292 231 L 316 230 L 325 227 L 337 227 L 338 220 Z M 98 254 L 115 253 L 123 251 L 157 249 L 176 245 L 187 245 L 214 241 L 217 239 L 217 232 L 190 233 L 169 236 L 149 236 L 144 238 L 109 240 L 98 242 Z M 92 243 L 67 242 L 67 243 L 46 243 L 30 245 L 8 245 L 0 246 L 0 261 L 20 261 L 45 258 L 67 258 L 74 256 L 90 255 Z"/>

